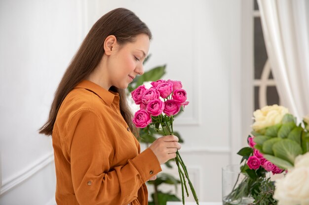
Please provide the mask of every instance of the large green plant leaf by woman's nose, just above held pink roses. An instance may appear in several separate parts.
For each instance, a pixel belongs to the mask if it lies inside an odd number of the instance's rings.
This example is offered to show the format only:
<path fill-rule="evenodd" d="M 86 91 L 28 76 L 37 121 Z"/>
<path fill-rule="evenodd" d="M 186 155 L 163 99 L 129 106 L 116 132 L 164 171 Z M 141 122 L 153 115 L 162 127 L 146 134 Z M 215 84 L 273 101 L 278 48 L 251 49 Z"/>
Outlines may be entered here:
<path fill-rule="evenodd" d="M 138 79 L 136 80 L 136 85 L 135 87 L 139 87 L 142 85 L 144 82 L 147 81 L 157 81 L 161 79 L 161 77 L 165 74 L 165 67 L 166 65 L 162 66 L 157 66 L 147 72 L 145 72 L 142 76 L 139 76 Z"/>

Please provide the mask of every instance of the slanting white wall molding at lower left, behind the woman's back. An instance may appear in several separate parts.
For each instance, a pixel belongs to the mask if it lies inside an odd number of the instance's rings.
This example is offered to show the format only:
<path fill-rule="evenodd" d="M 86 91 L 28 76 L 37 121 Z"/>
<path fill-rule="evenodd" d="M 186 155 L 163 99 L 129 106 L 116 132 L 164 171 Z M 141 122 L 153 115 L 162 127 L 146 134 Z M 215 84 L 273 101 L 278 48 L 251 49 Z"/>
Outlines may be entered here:
<path fill-rule="evenodd" d="M 2 185 L 0 188 L 0 196 L 2 196 L 11 189 L 14 189 L 23 181 L 35 175 L 53 161 L 54 161 L 54 153 L 53 152 L 48 153 L 45 156 L 33 162 L 28 167 L 21 170 L 20 172 L 14 174 L 13 176 L 8 177 L 7 179 L 4 179 L 2 181 Z"/>

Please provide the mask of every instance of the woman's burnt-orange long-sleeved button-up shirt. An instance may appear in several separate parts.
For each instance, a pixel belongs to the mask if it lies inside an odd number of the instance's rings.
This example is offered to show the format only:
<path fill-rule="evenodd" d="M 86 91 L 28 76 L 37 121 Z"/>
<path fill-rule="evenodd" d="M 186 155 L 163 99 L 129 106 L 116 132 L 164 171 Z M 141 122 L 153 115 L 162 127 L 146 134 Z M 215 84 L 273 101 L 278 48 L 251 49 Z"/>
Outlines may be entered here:
<path fill-rule="evenodd" d="M 52 133 L 57 205 L 147 205 L 145 182 L 161 171 L 119 110 L 119 95 L 90 81 L 64 99 Z"/>

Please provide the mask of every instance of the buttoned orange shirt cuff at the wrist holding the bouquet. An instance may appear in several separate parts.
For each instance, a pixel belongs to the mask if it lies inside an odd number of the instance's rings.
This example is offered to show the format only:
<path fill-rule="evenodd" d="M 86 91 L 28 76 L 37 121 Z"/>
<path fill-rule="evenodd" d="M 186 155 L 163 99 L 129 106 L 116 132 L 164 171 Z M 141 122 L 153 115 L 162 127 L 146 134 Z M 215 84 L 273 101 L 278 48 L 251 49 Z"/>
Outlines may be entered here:
<path fill-rule="evenodd" d="M 143 183 L 162 171 L 157 157 L 150 148 L 145 149 L 133 158 L 131 162 L 142 177 Z"/>

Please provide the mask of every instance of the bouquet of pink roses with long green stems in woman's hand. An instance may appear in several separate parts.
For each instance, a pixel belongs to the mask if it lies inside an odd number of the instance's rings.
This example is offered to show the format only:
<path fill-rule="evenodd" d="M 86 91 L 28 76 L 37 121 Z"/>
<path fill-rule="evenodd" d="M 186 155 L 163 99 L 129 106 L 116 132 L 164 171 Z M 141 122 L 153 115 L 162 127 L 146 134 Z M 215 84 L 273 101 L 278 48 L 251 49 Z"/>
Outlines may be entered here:
<path fill-rule="evenodd" d="M 134 114 L 133 122 L 138 128 L 154 126 L 155 131 L 161 135 L 173 135 L 173 117 L 180 112 L 182 107 L 189 104 L 186 101 L 187 92 L 182 89 L 180 81 L 158 80 L 152 82 L 151 85 L 152 88 L 149 89 L 141 85 L 131 92 L 135 104 L 140 105 L 140 110 Z M 189 196 L 187 178 L 194 200 L 198 205 L 193 184 L 178 150 L 175 161 L 181 181 L 183 204 L 185 204 L 184 187 Z"/>

